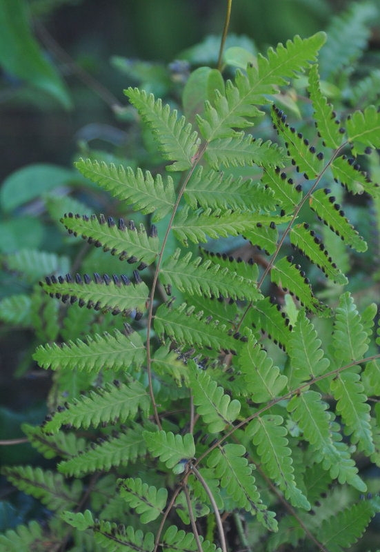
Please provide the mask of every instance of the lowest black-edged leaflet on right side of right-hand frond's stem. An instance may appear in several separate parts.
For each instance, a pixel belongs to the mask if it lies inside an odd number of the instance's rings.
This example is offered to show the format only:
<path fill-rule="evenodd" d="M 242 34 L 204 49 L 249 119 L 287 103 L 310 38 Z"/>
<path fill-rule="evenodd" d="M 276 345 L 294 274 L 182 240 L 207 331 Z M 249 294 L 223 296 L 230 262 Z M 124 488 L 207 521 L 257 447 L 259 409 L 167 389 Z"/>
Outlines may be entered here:
<path fill-rule="evenodd" d="M 270 304 L 269 297 L 252 304 L 249 320 L 254 328 L 268 333 L 269 339 L 278 344 L 283 351 L 286 350 L 292 326 L 285 313 L 280 313 L 277 306 Z"/>

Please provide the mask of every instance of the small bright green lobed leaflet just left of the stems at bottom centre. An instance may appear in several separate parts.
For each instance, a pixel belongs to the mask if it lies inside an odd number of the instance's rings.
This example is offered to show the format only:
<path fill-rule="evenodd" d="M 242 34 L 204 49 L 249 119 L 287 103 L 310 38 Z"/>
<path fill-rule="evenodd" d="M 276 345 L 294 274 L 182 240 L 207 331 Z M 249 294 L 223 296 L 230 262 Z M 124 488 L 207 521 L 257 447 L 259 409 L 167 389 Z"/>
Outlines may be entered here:
<path fill-rule="evenodd" d="M 132 479 L 119 479 L 120 494 L 138 514 L 141 523 L 149 523 L 159 517 L 163 513 L 163 509 L 168 500 L 168 490 L 161 487 L 156 489 L 155 486 L 148 486 L 143 483 L 139 477 Z"/>

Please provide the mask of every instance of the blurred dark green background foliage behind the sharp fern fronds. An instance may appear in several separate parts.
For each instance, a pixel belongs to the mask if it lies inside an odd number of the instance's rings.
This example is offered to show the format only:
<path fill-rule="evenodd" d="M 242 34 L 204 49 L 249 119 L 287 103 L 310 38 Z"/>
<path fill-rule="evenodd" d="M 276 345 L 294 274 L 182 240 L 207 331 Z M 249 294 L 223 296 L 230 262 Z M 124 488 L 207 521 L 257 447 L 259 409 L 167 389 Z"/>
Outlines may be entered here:
<path fill-rule="evenodd" d="M 323 60 L 323 92 L 341 108 L 378 104 L 377 5 L 378 1 L 235 0 L 225 74 L 233 74 L 228 56 L 235 67 L 241 57 L 244 67 L 246 55 L 265 52 L 294 34 L 307 37 L 330 28 L 330 41 L 340 32 L 343 37 L 336 46 L 330 42 Z M 178 107 L 190 72 L 216 66 L 225 10 L 221 0 L 0 0 L 0 440 L 23 437 L 21 423 L 41 422 L 46 397 L 52 406 L 59 392 L 51 376 L 37 370 L 31 359 L 37 344 L 57 338 L 62 322 L 57 305 L 41 295 L 38 280 L 79 266 L 83 272 L 100 272 L 104 257 L 105 270 L 119 272 L 112 269 L 117 259 L 78 244 L 58 222 L 69 210 L 128 215 L 83 179 L 72 162 L 83 156 L 162 170 L 154 141 L 141 131 L 123 89 L 139 86 Z M 341 30 L 334 16 L 346 10 L 350 20 Z M 228 50 L 232 47 L 245 52 Z M 351 60 L 359 61 L 355 69 Z M 299 88 L 304 87 L 305 81 L 299 81 Z M 293 97 L 283 101 L 297 119 L 296 86 Z M 191 117 L 197 102 L 191 105 L 189 90 Z M 379 179 L 378 163 L 373 170 Z M 366 227 L 367 208 L 363 200 L 359 210 L 350 212 L 365 237 L 371 232 Z M 379 213 L 380 206 L 375 210 Z M 134 220 L 139 222 L 139 215 L 134 214 Z M 339 250 L 340 242 L 336 247 Z M 373 262 L 370 255 L 373 251 L 361 257 L 357 286 L 364 265 Z M 66 324 L 74 324 L 79 316 L 74 311 Z M 90 315 L 83 311 L 80 316 L 82 329 L 88 329 Z M 112 323 L 106 319 L 103 329 Z M 65 339 L 81 335 L 67 330 Z M 62 328 L 61 335 L 64 332 Z M 71 382 L 78 388 L 93 383 L 88 378 Z M 28 444 L 0 447 L 0 460 L 7 464 L 33 463 L 36 455 Z M 36 517 L 36 507 L 35 501 L 6 486 L 0 494 L 0 531 Z"/>

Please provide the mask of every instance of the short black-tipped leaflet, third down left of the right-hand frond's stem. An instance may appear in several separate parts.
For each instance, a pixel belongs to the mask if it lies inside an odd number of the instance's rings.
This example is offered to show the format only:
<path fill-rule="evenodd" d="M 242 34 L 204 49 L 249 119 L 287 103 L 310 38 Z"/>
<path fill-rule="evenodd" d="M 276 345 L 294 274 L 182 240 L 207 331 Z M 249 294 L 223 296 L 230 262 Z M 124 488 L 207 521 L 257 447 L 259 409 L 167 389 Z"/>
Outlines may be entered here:
<path fill-rule="evenodd" d="M 261 182 L 274 192 L 274 198 L 281 205 L 284 214 L 292 213 L 301 199 L 301 190 L 294 186 L 292 178 L 287 179 L 286 172 L 279 167 L 263 167 Z"/>

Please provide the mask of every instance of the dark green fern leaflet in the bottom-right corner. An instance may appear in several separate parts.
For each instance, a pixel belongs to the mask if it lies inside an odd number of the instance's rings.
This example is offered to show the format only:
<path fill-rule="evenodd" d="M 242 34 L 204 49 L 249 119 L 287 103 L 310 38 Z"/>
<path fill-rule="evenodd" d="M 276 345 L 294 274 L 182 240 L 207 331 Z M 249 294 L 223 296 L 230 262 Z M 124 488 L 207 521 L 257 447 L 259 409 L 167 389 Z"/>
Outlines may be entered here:
<path fill-rule="evenodd" d="M 343 552 L 361 537 L 375 513 L 380 511 L 380 498 L 362 500 L 346 510 L 334 513 L 322 522 L 319 540 L 329 552 Z"/>

